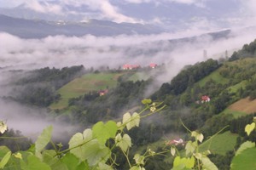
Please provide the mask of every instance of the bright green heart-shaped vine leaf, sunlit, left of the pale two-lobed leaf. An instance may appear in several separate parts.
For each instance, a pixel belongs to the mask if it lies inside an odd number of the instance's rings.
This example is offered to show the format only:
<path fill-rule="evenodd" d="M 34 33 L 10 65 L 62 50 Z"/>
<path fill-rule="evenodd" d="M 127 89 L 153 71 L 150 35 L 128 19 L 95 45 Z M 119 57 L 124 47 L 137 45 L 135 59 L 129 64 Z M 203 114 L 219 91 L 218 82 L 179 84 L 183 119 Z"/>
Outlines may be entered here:
<path fill-rule="evenodd" d="M 106 124 L 97 122 L 92 127 L 93 136 L 96 137 L 101 144 L 105 144 L 107 139 L 114 138 L 117 130 L 117 124 L 113 121 L 109 121 Z"/>

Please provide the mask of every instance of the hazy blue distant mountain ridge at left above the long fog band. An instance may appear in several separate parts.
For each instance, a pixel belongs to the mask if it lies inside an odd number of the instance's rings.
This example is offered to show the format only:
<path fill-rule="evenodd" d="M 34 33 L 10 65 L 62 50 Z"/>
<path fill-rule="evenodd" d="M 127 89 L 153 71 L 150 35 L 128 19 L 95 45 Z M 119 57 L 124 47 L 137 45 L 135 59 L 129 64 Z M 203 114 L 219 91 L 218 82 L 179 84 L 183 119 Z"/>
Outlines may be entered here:
<path fill-rule="evenodd" d="M 157 26 L 119 24 L 107 20 L 86 22 L 25 20 L 0 14 L 0 31 L 21 38 L 44 38 L 57 35 L 82 37 L 88 34 L 94 36 L 132 35 L 135 33 L 146 35 L 160 33 L 162 30 Z"/>

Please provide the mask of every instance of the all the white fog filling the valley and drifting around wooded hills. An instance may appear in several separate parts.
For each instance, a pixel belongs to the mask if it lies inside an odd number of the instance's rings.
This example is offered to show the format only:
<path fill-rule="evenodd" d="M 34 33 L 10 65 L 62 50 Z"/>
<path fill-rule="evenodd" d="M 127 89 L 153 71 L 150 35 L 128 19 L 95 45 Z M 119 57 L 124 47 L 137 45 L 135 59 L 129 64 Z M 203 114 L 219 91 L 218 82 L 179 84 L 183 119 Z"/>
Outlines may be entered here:
<path fill-rule="evenodd" d="M 32 70 L 45 66 L 61 68 L 84 65 L 85 68 L 108 66 L 117 69 L 124 64 L 147 66 L 149 63 L 164 64 L 166 72 L 159 77 L 147 94 L 152 94 L 163 82 L 170 82 L 184 65 L 193 65 L 207 58 L 224 57 L 227 50 L 231 55 L 243 44 L 252 42 L 256 32 L 250 30 L 232 31 L 229 38 L 212 39 L 210 36 L 195 38 L 193 42 L 169 40 L 195 37 L 201 32 L 162 33 L 149 36 L 117 37 L 45 37 L 43 39 L 20 39 L 8 33 L 0 33 L 0 96 L 8 95 L 9 82 L 15 80 L 13 70 Z M 207 58 L 203 56 L 207 50 Z M 12 75 L 12 76 L 11 76 Z M 7 121 L 9 128 L 20 130 L 30 138 L 35 138 L 49 124 L 54 125 L 57 134 L 75 131 L 78 127 L 56 121 L 47 116 L 45 109 L 31 108 L 15 102 L 0 100 L 0 120 Z M 75 129 L 75 130 L 74 130 Z"/>

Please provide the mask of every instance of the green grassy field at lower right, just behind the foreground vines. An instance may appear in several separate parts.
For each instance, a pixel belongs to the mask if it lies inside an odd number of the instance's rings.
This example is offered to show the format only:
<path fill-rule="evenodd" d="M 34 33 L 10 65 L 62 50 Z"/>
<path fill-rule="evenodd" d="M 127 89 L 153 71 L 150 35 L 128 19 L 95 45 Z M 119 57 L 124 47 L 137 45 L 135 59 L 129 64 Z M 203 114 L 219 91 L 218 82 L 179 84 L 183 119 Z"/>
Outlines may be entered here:
<path fill-rule="evenodd" d="M 210 150 L 213 154 L 225 155 L 227 151 L 234 150 L 237 134 L 228 132 L 218 134 L 212 140 L 200 145 L 200 150 Z"/>

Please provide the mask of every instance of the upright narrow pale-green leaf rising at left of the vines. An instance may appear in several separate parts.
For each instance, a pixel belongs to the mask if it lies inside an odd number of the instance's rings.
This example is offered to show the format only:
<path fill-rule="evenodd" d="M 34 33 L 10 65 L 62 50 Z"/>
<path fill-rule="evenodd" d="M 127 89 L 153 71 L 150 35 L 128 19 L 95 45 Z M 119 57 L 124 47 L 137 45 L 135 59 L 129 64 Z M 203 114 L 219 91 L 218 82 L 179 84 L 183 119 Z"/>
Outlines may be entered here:
<path fill-rule="evenodd" d="M 43 133 L 41 133 L 38 136 L 38 139 L 35 143 L 35 154 L 36 156 L 38 156 L 39 158 L 42 157 L 41 155 L 41 151 L 44 150 L 44 147 L 49 143 L 50 139 L 51 139 L 51 133 L 52 133 L 53 127 L 49 126 L 44 128 Z"/>

